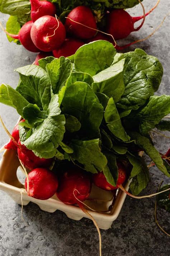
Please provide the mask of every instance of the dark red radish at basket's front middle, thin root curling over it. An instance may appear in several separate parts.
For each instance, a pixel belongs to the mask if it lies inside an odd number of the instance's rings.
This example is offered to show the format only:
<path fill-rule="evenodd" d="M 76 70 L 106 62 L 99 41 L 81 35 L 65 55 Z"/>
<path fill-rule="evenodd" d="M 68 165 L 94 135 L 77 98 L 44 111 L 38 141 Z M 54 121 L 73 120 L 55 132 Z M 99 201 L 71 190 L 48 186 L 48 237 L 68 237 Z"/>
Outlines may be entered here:
<path fill-rule="evenodd" d="M 59 178 L 57 197 L 66 205 L 79 204 L 77 199 L 81 202 L 85 201 L 90 195 L 91 186 L 90 175 L 80 168 L 74 167 L 74 169 L 64 172 Z"/>

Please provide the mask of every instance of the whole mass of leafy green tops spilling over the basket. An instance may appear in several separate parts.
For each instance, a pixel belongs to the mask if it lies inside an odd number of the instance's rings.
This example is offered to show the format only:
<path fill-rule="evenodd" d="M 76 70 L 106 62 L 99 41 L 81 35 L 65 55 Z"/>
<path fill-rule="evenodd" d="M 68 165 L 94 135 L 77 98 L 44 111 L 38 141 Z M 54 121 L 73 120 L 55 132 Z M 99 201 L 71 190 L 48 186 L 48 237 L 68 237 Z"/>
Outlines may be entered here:
<path fill-rule="evenodd" d="M 81 46 L 71 58 L 47 57 L 40 66 L 16 69 L 14 90 L 0 87 L 0 102 L 14 107 L 25 119 L 20 141 L 36 156 L 70 161 L 86 171 L 103 171 L 113 186 L 117 160 L 131 167 L 131 190 L 147 186 L 148 169 L 134 149 L 142 149 L 166 176 L 149 131 L 169 129 L 162 118 L 170 113 L 170 96 L 154 96 L 163 69 L 156 57 L 135 52 L 116 54 L 107 41 Z M 129 168 L 130 168 L 129 167 Z"/>

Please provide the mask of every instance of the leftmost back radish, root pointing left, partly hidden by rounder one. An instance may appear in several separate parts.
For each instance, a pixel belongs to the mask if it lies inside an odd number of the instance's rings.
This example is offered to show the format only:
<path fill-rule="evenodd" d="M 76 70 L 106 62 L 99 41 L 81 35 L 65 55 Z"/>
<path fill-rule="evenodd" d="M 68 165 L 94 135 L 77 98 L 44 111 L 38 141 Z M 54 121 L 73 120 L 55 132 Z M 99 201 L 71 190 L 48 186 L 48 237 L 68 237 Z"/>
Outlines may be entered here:
<path fill-rule="evenodd" d="M 11 33 L 8 33 L 7 31 L 5 31 L 5 33 L 14 39 L 18 39 L 20 41 L 20 43 L 28 51 L 32 51 L 33 53 L 38 53 L 39 49 L 34 45 L 32 39 L 31 39 L 31 36 L 30 36 L 30 30 L 31 30 L 32 26 L 33 26 L 33 22 L 28 21 L 27 23 L 25 23 L 22 26 L 18 35 L 13 35 Z"/>

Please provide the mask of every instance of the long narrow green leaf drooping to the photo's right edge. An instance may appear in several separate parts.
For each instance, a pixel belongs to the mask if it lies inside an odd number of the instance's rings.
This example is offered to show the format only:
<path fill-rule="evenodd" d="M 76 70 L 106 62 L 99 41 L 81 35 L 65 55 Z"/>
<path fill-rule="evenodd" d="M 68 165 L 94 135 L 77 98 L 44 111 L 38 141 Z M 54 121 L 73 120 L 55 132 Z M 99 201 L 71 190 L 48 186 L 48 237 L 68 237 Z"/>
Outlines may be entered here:
<path fill-rule="evenodd" d="M 155 163 L 157 168 L 162 171 L 167 177 L 170 177 L 170 173 L 167 171 L 160 153 L 156 150 L 154 145 L 152 145 L 150 139 L 140 135 L 135 131 L 128 132 L 128 134 L 131 136 L 132 139 L 135 140 L 135 143 L 146 152 L 146 154 Z"/>

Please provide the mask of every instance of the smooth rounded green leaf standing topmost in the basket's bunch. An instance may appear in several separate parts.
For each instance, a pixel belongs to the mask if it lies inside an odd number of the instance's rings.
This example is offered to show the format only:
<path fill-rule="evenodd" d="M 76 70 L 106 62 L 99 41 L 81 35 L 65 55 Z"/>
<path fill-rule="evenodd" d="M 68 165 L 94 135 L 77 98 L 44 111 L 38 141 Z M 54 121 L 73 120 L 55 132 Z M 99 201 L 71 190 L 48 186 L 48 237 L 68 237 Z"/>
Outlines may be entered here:
<path fill-rule="evenodd" d="M 82 45 L 74 55 L 76 71 L 91 76 L 111 66 L 116 50 L 108 41 L 99 40 Z"/>

